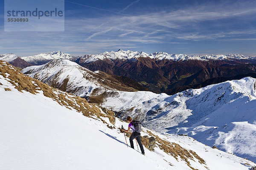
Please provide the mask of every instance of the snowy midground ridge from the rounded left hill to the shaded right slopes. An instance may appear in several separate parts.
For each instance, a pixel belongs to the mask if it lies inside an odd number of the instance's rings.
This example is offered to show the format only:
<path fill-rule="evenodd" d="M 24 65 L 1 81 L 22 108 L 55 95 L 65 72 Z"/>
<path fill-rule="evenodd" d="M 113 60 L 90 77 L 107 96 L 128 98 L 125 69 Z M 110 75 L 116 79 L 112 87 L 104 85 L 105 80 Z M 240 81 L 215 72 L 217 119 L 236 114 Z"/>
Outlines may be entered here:
<path fill-rule="evenodd" d="M 60 65 L 49 62 L 47 65 L 26 68 L 23 73 L 43 81 L 52 79 L 60 84 L 68 78 L 67 91 L 79 96 L 84 96 L 84 93 L 90 95 L 88 89 L 96 89 L 90 85 L 90 79 L 81 83 L 85 81 L 83 76 L 79 76 L 82 68 L 74 62 L 54 62 Z M 63 62 L 68 66 L 63 65 Z M 59 71 L 59 68 L 66 67 L 65 71 Z M 98 97 L 103 107 L 116 111 L 121 118 L 131 115 L 141 120 L 145 127 L 159 133 L 188 134 L 209 146 L 217 146 L 226 152 L 256 161 L 256 143 L 251 142 L 256 140 L 255 87 L 256 79 L 246 77 L 205 88 L 189 89 L 173 96 L 102 87 L 104 95 Z"/>

